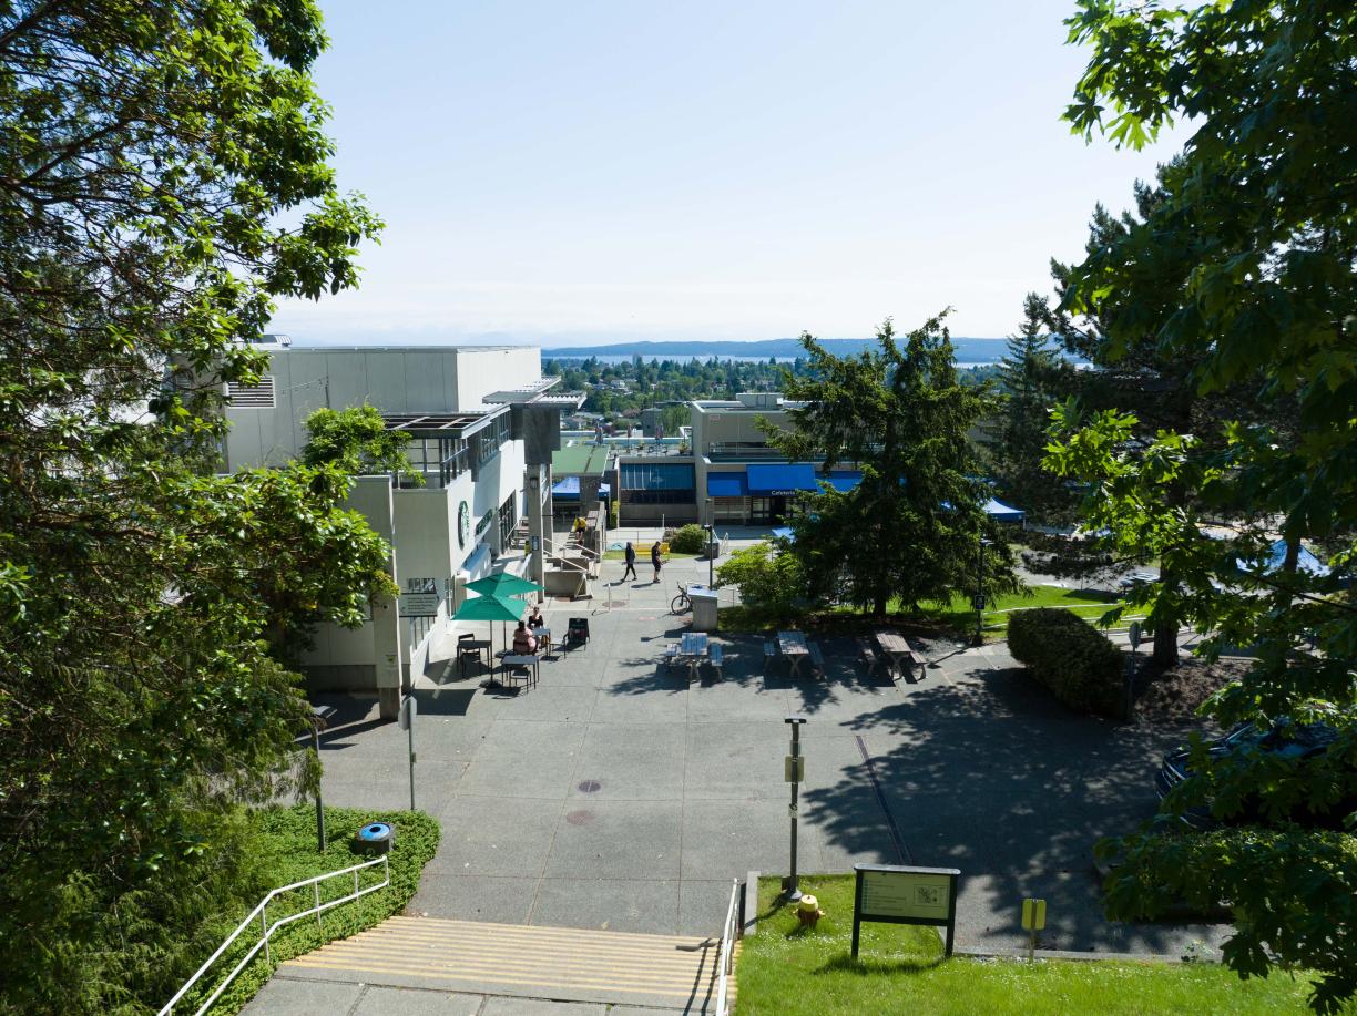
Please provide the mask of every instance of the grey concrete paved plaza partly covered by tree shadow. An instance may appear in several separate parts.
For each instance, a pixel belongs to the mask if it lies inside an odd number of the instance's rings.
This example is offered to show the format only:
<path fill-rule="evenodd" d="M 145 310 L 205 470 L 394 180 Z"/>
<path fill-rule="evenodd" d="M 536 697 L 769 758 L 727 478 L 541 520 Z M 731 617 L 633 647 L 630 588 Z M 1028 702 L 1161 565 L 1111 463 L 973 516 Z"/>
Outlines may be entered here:
<path fill-rule="evenodd" d="M 706 562 L 673 560 L 658 585 L 645 555 L 641 582 L 617 582 L 622 568 L 605 562 L 592 604 L 546 605 L 558 638 L 589 616 L 592 639 L 544 662 L 536 686 L 483 689 L 451 646 L 418 680 L 415 804 L 442 842 L 411 913 L 716 935 L 733 878 L 786 871 L 783 718 L 803 714 L 803 872 L 959 868 L 966 948 L 1025 944 L 1027 895 L 1049 901 L 1048 948 L 1175 954 L 1219 939 L 1099 910 L 1091 844 L 1153 811 L 1152 772 L 1183 730 L 1077 716 L 1003 646 L 931 643 L 925 676 L 893 686 L 864 676 L 851 639 L 828 639 L 826 678 L 792 682 L 764 673 L 759 636 L 718 633 L 723 680 L 703 669 L 689 686 L 658 661 L 684 631 L 668 613 L 676 582 L 706 582 Z M 322 737 L 326 803 L 407 807 L 406 734 L 375 699 L 320 699 L 339 708 Z"/>

